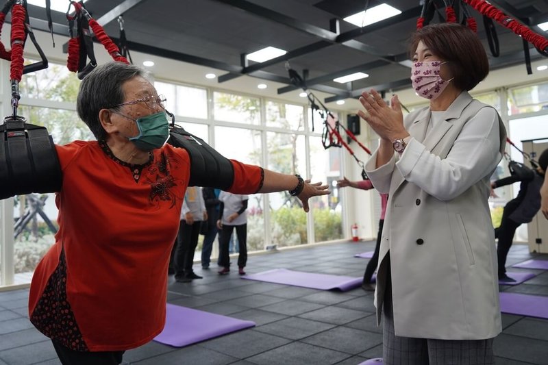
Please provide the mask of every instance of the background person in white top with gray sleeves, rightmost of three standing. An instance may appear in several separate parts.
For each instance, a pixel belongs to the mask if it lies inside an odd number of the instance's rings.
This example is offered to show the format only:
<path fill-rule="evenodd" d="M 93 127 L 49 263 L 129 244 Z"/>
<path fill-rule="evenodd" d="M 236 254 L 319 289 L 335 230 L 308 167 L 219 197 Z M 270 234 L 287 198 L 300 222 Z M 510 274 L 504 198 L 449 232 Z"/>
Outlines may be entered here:
<path fill-rule="evenodd" d="M 245 264 L 247 263 L 247 202 L 249 197 L 245 194 L 232 194 L 221 191 L 219 194 L 221 216 L 217 220 L 217 227 L 221 229 L 219 243 L 219 263 L 223 267 L 220 275 L 227 275 L 230 272 L 229 244 L 232 232 L 236 229 L 238 236 L 238 274 L 245 275 Z"/>

